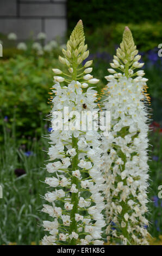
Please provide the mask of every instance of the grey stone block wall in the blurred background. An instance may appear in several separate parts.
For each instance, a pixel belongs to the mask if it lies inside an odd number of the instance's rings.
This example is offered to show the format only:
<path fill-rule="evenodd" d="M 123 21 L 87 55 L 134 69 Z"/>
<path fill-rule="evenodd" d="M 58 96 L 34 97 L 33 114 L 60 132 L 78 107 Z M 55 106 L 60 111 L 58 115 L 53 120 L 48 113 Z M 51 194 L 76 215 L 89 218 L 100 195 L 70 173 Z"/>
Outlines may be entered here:
<path fill-rule="evenodd" d="M 66 0 L 0 0 L 0 33 L 25 40 L 45 32 L 51 40 L 64 36 L 66 26 Z"/>

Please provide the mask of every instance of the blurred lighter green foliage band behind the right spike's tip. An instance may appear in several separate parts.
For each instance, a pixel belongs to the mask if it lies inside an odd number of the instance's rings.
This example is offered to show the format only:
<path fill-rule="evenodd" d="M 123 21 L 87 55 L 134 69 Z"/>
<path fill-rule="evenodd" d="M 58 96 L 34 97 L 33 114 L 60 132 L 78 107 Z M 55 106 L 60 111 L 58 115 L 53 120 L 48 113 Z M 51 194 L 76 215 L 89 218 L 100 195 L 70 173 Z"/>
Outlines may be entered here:
<path fill-rule="evenodd" d="M 132 20 L 130 20 L 132 22 Z M 85 23 L 86 24 L 86 23 Z M 97 27 L 94 31 L 86 31 L 86 40 L 91 46 L 91 50 L 107 50 L 114 49 L 116 43 L 122 40 L 124 27 L 128 26 L 132 31 L 135 44 L 140 51 L 148 51 L 162 42 L 162 22 L 156 23 L 113 23 L 111 25 L 103 25 Z"/>

